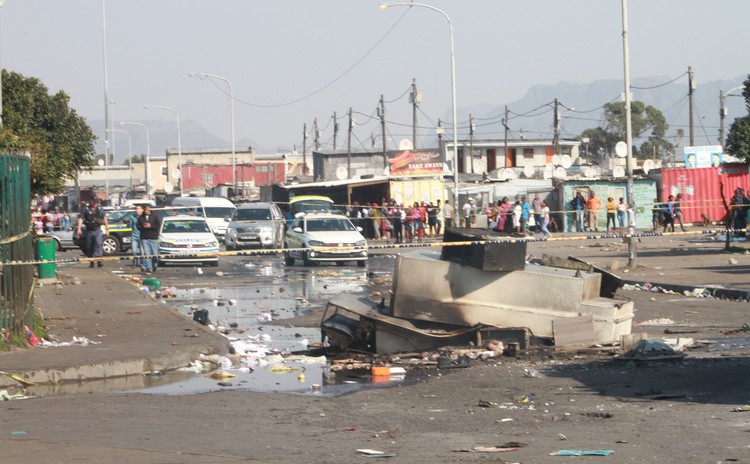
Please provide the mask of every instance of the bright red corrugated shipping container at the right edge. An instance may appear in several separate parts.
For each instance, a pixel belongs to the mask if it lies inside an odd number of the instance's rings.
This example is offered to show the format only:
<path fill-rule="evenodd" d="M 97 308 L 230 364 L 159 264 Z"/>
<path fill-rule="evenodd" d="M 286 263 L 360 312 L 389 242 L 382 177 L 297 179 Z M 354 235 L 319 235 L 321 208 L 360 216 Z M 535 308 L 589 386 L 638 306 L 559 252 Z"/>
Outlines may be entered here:
<path fill-rule="evenodd" d="M 727 164 L 711 168 L 664 169 L 661 174 L 662 198 L 682 194 L 682 219 L 685 222 L 702 222 L 701 214 L 711 221 L 723 221 L 726 211 L 721 201 L 722 187 L 727 203 L 735 189 L 750 188 L 750 174 L 746 164 Z"/>

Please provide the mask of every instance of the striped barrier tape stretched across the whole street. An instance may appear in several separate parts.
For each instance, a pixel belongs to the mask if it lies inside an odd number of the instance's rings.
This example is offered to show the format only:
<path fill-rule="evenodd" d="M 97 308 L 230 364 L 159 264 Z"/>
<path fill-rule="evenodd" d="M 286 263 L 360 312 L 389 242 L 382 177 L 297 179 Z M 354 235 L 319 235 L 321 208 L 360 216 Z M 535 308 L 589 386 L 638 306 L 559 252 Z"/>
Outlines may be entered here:
<path fill-rule="evenodd" d="M 478 232 L 485 232 L 484 229 L 470 229 Z M 735 234 L 748 232 L 750 229 L 704 229 L 699 231 L 687 231 L 687 232 L 637 232 L 633 234 L 586 234 L 586 235 L 575 235 L 569 237 L 549 237 L 549 238 L 537 238 L 537 237 L 508 237 L 502 239 L 491 239 L 491 240 L 467 240 L 461 242 L 417 242 L 417 243 L 387 243 L 380 245 L 366 245 L 361 246 L 349 246 L 349 247 L 309 247 L 309 248 L 271 248 L 271 249 L 260 249 L 260 250 L 238 250 L 238 251 L 220 251 L 217 254 L 163 254 L 163 255 L 139 255 L 138 258 L 153 258 L 158 257 L 161 259 L 193 259 L 200 260 L 214 258 L 216 256 L 270 256 L 278 255 L 284 252 L 302 252 L 302 251 L 328 251 L 328 250 L 362 250 L 365 249 L 368 252 L 371 250 L 391 250 L 391 249 L 404 249 L 404 248 L 431 248 L 431 247 L 454 247 L 454 246 L 475 246 L 475 245 L 493 245 L 503 243 L 534 243 L 534 242 L 568 242 L 568 241 L 584 241 L 584 240 L 610 240 L 610 239 L 624 239 L 624 238 L 643 238 L 643 237 L 680 237 L 680 236 L 691 236 L 691 235 L 713 235 L 713 234 Z M 78 264 L 78 263 L 90 263 L 90 262 L 107 262 L 107 261 L 131 261 L 135 257 L 131 255 L 121 256 L 104 256 L 101 258 L 67 258 L 58 260 L 26 260 L 26 261 L 0 261 L 0 268 L 4 266 L 28 266 L 28 265 L 40 265 L 40 264 Z M 346 257 L 342 257 L 345 259 Z M 335 260 L 334 260 L 335 261 Z"/>

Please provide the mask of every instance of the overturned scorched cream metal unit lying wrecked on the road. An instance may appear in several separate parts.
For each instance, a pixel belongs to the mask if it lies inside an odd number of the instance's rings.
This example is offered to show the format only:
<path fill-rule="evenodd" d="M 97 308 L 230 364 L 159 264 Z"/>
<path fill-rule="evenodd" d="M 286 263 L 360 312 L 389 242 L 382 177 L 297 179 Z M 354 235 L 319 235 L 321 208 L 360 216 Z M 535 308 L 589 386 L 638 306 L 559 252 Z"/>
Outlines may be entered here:
<path fill-rule="evenodd" d="M 633 302 L 614 297 L 616 283 L 602 289 L 602 274 L 592 268 L 526 263 L 523 240 L 486 243 L 502 239 L 449 229 L 447 241 L 470 243 L 398 256 L 390 307 L 340 295 L 323 317 L 324 336 L 342 349 L 385 354 L 507 340 L 518 331 L 525 335 L 513 342 L 522 349 L 530 340 L 591 346 L 630 333 Z"/>

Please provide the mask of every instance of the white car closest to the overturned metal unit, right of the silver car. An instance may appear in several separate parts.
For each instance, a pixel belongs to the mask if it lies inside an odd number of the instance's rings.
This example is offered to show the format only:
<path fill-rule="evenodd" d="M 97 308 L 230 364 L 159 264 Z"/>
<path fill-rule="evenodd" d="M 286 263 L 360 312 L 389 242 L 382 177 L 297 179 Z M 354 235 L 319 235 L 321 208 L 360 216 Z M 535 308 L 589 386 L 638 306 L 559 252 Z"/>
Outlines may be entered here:
<path fill-rule="evenodd" d="M 346 216 L 339 214 L 301 215 L 292 221 L 284 236 L 284 248 L 289 250 L 284 251 L 284 263 L 292 266 L 295 259 L 301 259 L 306 266 L 315 262 L 341 265 L 346 261 L 356 261 L 358 266 L 364 267 L 367 241 L 361 231 Z M 295 248 L 301 250 L 295 251 Z"/>

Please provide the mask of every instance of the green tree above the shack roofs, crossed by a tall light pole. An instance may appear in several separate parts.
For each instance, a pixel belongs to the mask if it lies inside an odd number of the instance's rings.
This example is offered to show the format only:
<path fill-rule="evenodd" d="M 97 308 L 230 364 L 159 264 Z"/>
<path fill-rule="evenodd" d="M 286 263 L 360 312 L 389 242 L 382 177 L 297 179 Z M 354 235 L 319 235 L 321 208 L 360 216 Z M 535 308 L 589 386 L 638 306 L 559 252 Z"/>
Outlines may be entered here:
<path fill-rule="evenodd" d="M 659 158 L 669 156 L 674 145 L 666 138 L 669 125 L 662 112 L 639 101 L 631 102 L 630 110 L 633 140 L 646 138 L 640 147 L 633 143 L 633 156 L 650 158 L 654 153 Z M 586 129 L 581 137 L 589 138 L 592 153 L 603 157 L 614 153 L 617 142 L 624 142 L 626 139 L 625 103 L 604 105 L 603 127 Z"/>

